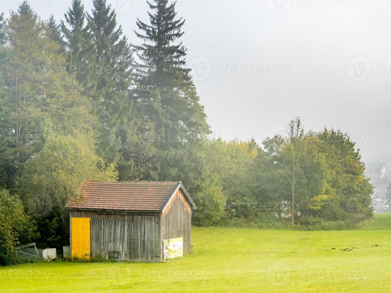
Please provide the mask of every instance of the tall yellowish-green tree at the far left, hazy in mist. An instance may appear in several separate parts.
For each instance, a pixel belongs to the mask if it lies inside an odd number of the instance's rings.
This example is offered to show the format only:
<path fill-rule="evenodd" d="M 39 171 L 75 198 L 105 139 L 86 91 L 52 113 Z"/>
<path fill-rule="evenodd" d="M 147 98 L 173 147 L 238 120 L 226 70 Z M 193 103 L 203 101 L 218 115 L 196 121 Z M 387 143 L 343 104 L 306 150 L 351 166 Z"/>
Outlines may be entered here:
<path fill-rule="evenodd" d="M 5 28 L 7 59 L 0 63 L 5 87 L 0 99 L 2 184 L 13 187 L 25 163 L 57 134 L 91 134 L 90 101 L 65 70 L 52 30 L 27 2 L 11 11 Z"/>

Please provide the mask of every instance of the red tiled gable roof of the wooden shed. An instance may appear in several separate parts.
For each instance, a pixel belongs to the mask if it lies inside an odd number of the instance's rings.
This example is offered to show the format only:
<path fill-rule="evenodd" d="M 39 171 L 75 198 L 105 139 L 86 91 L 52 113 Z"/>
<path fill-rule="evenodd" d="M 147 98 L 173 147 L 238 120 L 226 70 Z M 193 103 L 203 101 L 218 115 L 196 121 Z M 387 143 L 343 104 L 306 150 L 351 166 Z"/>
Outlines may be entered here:
<path fill-rule="evenodd" d="M 68 209 L 105 209 L 120 211 L 163 211 L 181 182 L 84 182 L 83 200 L 70 200 Z"/>

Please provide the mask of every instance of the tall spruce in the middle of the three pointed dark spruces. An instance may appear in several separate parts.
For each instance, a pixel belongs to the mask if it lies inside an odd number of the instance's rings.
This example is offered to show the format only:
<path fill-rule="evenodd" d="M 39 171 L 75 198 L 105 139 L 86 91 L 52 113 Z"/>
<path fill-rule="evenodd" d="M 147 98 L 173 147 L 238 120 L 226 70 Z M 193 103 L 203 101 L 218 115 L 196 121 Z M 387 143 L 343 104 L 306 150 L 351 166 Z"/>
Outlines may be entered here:
<path fill-rule="evenodd" d="M 106 0 L 93 0 L 91 15 L 87 14 L 95 47 L 95 64 L 99 76 L 92 101 L 99 118 L 99 155 L 110 162 L 121 158 L 123 138 L 119 132 L 130 131 L 131 103 L 128 90 L 132 83 L 132 49 L 122 27 L 117 26 L 117 15 Z"/>

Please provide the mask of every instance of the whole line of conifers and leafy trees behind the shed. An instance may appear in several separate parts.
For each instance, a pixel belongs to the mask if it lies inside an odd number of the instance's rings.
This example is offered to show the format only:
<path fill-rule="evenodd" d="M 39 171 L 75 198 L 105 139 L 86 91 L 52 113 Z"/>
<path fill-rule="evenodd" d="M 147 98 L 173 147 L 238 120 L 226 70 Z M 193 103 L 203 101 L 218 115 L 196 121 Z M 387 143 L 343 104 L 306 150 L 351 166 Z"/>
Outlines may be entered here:
<path fill-rule="evenodd" d="M 73 0 L 60 23 L 27 1 L 1 14 L 0 263 L 27 239 L 68 244 L 64 206 L 84 180 L 180 180 L 196 225 L 371 216 L 373 187 L 343 132 L 306 132 L 296 118 L 262 146 L 211 136 L 185 20 L 175 2 L 148 5 L 131 41 L 106 0 L 91 11 Z"/>

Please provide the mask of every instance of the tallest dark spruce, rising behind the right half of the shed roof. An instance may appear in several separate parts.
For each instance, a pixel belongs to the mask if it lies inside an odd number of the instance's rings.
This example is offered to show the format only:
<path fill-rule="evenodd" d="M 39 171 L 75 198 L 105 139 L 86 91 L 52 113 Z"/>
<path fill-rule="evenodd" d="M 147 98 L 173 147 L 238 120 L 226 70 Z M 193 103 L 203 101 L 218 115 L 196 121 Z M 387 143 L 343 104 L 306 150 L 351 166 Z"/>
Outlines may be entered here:
<path fill-rule="evenodd" d="M 141 177 L 181 179 L 190 185 L 198 168 L 192 145 L 209 134 L 209 126 L 190 70 L 185 68 L 186 49 L 178 41 L 184 34 L 185 20 L 176 19 L 175 2 L 170 5 L 167 0 L 147 3 L 152 10 L 148 13 L 150 23 L 139 19 L 136 22 L 141 32 L 135 33 L 143 44 L 136 46 L 140 63 L 132 95 L 138 119 L 144 120 L 146 125 L 145 137 L 152 136 L 156 151 L 149 157 Z M 183 170 L 183 166 L 188 170 Z M 195 171 L 190 171 L 192 168 Z"/>

